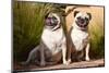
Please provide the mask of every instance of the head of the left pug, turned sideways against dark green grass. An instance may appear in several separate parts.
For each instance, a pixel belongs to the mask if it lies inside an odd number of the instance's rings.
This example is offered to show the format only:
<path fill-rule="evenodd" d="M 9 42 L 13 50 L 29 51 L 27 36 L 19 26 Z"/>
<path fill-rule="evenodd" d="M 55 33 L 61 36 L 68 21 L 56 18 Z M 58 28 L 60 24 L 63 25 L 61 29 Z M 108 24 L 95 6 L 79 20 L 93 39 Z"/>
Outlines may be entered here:
<path fill-rule="evenodd" d="M 46 20 L 45 25 L 51 28 L 60 25 L 60 16 L 57 13 L 48 13 L 45 20 Z"/>

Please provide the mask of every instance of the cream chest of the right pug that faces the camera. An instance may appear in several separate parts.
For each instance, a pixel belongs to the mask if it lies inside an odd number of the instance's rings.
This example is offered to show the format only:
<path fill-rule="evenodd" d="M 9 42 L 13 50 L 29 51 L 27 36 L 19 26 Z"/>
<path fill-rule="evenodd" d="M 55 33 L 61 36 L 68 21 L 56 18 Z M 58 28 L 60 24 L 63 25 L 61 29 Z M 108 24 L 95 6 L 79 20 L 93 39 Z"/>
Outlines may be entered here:
<path fill-rule="evenodd" d="M 73 29 L 71 33 L 72 41 L 77 51 L 84 49 L 86 44 L 88 42 L 88 33 Z"/>

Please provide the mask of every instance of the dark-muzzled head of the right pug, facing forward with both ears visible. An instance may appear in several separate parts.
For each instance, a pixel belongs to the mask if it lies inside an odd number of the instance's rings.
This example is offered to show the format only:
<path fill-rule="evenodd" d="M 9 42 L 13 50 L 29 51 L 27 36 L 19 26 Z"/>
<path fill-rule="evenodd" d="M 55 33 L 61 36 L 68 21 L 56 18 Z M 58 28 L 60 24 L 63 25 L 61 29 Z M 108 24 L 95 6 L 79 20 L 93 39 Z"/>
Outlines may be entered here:
<path fill-rule="evenodd" d="M 86 28 L 89 21 L 92 20 L 92 14 L 87 12 L 74 12 L 75 23 L 81 28 Z"/>

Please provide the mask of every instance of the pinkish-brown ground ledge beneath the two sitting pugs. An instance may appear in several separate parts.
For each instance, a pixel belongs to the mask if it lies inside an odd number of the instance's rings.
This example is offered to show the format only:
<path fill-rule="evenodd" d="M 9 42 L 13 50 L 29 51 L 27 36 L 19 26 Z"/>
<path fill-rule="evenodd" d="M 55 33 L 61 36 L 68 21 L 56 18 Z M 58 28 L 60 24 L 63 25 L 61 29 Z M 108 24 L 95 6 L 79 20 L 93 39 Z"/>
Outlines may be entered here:
<path fill-rule="evenodd" d="M 69 65 L 64 64 L 56 64 L 56 65 L 48 65 L 48 66 L 37 66 L 37 65 L 27 65 L 21 66 L 20 64 L 14 64 L 14 71 L 44 71 L 44 70 L 64 70 L 64 69 L 82 69 L 82 68 L 94 68 L 94 66 L 105 66 L 105 60 L 90 60 L 90 61 L 81 61 L 81 62 L 72 62 Z"/>

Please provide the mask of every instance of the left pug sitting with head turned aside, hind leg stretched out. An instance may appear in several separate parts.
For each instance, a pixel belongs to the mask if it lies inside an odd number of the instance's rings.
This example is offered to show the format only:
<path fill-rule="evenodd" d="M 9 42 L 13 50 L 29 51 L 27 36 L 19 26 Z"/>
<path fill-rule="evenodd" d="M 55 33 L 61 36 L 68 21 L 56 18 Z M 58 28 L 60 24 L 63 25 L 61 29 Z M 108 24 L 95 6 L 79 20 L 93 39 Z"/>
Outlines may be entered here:
<path fill-rule="evenodd" d="M 45 26 L 39 46 L 35 47 L 25 62 L 35 62 L 40 66 L 56 64 L 59 61 L 69 64 L 66 61 L 66 42 L 63 33 L 61 19 L 57 13 L 48 13 L 45 17 Z"/>

